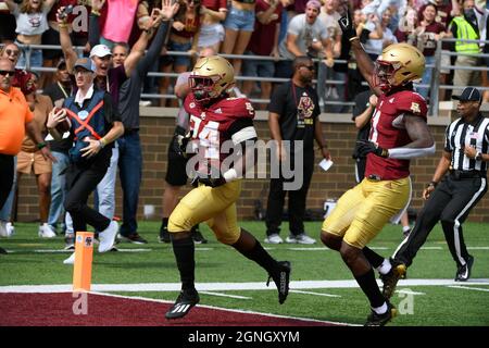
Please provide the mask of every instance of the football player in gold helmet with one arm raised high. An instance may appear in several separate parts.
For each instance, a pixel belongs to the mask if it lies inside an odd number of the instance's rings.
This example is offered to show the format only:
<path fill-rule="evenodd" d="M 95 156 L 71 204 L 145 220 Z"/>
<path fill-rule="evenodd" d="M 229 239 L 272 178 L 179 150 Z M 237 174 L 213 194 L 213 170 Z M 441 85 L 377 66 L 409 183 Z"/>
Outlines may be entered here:
<path fill-rule="evenodd" d="M 384 259 L 365 246 L 394 215 L 401 216 L 411 196 L 410 159 L 435 152 L 428 129 L 425 99 L 414 92 L 413 80 L 425 70 L 425 58 L 413 46 L 388 46 L 375 63 L 365 53 L 350 14 L 339 21 L 351 42 L 360 71 L 378 96 L 367 141 L 358 144 L 366 156 L 364 179 L 338 200 L 325 220 L 321 239 L 340 252 L 368 298 L 372 313 L 365 325 L 385 325 L 396 314 L 375 281 L 372 265 Z"/>

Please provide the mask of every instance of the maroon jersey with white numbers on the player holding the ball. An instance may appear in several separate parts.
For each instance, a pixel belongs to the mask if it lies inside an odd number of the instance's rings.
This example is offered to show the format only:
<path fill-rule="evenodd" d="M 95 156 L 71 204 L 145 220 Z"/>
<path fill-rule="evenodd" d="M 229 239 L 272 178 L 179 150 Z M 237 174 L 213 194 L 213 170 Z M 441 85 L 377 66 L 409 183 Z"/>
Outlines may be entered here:
<path fill-rule="evenodd" d="M 221 167 L 222 161 L 229 156 L 229 149 L 222 152 L 222 145 L 252 123 L 240 122 L 241 126 L 235 126 L 230 132 L 231 125 L 254 117 L 253 105 L 246 98 L 224 98 L 204 108 L 196 101 L 193 94 L 189 94 L 184 108 L 190 114 L 192 144 L 199 156 L 208 161 L 206 167 L 199 165 L 199 172 L 209 171 L 210 166 Z"/>

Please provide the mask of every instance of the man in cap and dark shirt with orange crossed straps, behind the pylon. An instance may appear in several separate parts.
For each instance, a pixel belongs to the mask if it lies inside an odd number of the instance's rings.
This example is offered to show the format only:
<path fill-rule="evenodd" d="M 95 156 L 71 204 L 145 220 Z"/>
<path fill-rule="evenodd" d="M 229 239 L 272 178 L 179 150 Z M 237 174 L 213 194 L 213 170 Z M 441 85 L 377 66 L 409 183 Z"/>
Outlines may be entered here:
<path fill-rule="evenodd" d="M 93 226 L 99 234 L 99 252 L 112 249 L 117 235 L 117 222 L 87 206 L 88 196 L 104 177 L 110 165 L 114 141 L 124 134 L 124 126 L 114 110 L 112 99 L 104 90 L 95 88 L 95 66 L 89 58 L 80 58 L 74 64 L 76 87 L 74 96 L 63 102 L 63 109 L 54 108 L 48 117 L 48 129 L 54 139 L 62 138 L 58 125 L 68 122 L 73 147 L 71 165 L 66 171 L 67 194 L 64 208 L 73 219 L 76 232 Z M 75 253 L 64 261 L 73 264 Z"/>

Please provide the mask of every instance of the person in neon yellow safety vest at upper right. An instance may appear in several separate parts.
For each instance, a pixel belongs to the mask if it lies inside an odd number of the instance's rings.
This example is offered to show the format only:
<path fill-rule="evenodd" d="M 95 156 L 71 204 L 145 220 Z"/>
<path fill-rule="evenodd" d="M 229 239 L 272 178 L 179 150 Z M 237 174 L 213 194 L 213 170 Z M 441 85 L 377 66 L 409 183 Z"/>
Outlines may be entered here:
<path fill-rule="evenodd" d="M 477 57 L 480 52 L 479 44 L 463 41 L 480 39 L 474 0 L 464 0 L 462 8 L 463 15 L 454 17 L 450 23 L 450 32 L 453 37 L 462 39 L 461 41 L 455 41 L 454 45 L 454 51 L 462 54 L 456 55 L 453 85 L 480 86 L 480 71 L 456 69 L 459 66 L 479 66 L 480 64 L 480 59 Z"/>

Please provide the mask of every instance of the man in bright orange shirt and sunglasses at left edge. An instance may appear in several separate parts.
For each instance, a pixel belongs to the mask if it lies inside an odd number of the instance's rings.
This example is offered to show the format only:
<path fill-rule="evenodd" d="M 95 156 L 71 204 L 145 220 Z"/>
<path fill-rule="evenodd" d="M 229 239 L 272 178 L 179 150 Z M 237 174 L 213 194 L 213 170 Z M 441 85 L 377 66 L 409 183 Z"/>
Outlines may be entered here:
<path fill-rule="evenodd" d="M 12 188 L 14 157 L 21 151 L 25 133 L 34 139 L 46 159 L 54 160 L 37 128 L 33 112 L 24 95 L 12 87 L 15 74 L 11 60 L 0 58 L 0 209 L 3 208 Z M 5 225 L 0 223 L 0 236 L 7 236 Z M 0 252 L 4 250 L 1 249 Z"/>

